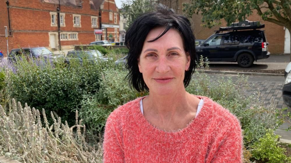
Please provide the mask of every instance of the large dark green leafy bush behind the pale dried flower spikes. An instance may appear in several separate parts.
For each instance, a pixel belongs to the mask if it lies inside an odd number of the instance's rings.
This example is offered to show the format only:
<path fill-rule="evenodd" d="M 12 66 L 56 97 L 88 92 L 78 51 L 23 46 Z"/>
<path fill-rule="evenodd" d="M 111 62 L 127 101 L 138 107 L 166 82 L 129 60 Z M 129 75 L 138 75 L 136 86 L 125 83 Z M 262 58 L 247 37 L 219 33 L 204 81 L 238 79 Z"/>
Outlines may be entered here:
<path fill-rule="evenodd" d="M 55 65 L 41 59 L 20 59 L 14 64 L 17 71 L 9 71 L 8 89 L 12 98 L 37 109 L 45 108 L 47 114 L 54 111 L 73 124 L 70 117 L 81 107 L 82 96 L 98 91 L 101 72 L 114 63 L 91 64 L 84 60 L 66 66 L 63 62 Z"/>

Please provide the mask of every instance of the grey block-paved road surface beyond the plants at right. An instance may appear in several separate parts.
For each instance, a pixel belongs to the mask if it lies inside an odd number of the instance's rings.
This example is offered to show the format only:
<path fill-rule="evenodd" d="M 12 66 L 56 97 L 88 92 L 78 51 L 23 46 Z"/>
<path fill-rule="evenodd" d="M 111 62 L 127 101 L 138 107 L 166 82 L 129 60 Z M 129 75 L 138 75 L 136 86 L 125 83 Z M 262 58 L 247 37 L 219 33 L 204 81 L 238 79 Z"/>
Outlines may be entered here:
<path fill-rule="evenodd" d="M 232 77 L 233 80 L 236 80 L 237 75 L 230 74 L 209 74 L 215 78 L 219 76 L 223 77 Z M 286 108 L 287 105 L 283 104 L 282 98 L 282 88 L 284 82 L 284 76 L 260 76 L 260 75 L 247 75 L 248 81 L 252 84 L 251 88 L 247 89 L 245 94 L 252 95 L 257 93 L 259 89 L 262 95 L 262 100 L 266 105 L 270 104 L 271 98 L 273 97 L 277 102 L 276 108 L 282 109 Z M 287 109 L 288 112 L 291 112 L 291 108 Z M 282 124 L 277 130 L 276 134 L 281 135 L 281 139 L 290 140 L 291 142 L 291 131 L 285 131 L 286 128 L 290 126 L 290 123 Z"/>

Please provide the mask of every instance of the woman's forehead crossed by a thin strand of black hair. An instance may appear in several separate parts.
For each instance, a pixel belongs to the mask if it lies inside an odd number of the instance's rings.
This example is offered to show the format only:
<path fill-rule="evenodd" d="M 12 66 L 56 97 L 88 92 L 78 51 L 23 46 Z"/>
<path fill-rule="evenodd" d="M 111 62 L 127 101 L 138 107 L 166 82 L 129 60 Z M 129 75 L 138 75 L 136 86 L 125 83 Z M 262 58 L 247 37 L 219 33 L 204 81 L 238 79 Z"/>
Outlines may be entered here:
<path fill-rule="evenodd" d="M 158 28 L 152 29 L 144 41 L 144 46 L 175 45 L 175 46 L 183 47 L 183 39 L 182 39 L 180 33 L 173 28 L 168 30 L 162 37 L 160 37 L 156 41 L 148 42 L 148 41 L 151 41 L 151 40 L 157 38 L 159 35 L 161 35 L 163 33 L 164 30 L 165 30 L 164 27 L 158 27 Z"/>

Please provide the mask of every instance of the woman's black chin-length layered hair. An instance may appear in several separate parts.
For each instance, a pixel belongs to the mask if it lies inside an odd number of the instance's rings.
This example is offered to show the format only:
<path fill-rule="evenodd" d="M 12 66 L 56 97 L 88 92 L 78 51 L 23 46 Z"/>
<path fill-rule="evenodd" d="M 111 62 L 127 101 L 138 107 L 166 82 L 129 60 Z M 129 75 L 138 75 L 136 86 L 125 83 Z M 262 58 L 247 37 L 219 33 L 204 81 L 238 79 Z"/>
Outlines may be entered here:
<path fill-rule="evenodd" d="M 129 84 L 139 92 L 149 91 L 149 88 L 144 83 L 142 73 L 138 69 L 138 58 L 148 33 L 156 27 L 165 27 L 165 30 L 161 35 L 149 42 L 156 41 L 171 28 L 181 34 L 184 41 L 184 50 L 189 53 L 191 58 L 190 67 L 185 71 L 184 78 L 184 86 L 187 87 L 194 73 L 196 60 L 195 37 L 191 29 L 191 23 L 185 16 L 175 13 L 173 9 L 161 4 L 157 5 L 155 11 L 140 15 L 126 31 L 125 45 L 129 49 L 126 67 L 129 70 L 127 75 Z"/>

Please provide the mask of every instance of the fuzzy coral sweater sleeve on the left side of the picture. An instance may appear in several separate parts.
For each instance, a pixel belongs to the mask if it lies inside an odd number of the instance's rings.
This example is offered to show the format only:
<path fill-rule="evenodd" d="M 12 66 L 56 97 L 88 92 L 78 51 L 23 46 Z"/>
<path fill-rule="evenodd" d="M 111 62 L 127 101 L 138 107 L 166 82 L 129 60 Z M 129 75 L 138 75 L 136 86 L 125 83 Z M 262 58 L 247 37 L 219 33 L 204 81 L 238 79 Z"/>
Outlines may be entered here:
<path fill-rule="evenodd" d="M 122 148 L 121 130 L 117 125 L 117 116 L 110 114 L 105 125 L 103 140 L 103 162 L 124 162 L 124 150 Z"/>

